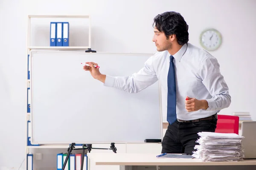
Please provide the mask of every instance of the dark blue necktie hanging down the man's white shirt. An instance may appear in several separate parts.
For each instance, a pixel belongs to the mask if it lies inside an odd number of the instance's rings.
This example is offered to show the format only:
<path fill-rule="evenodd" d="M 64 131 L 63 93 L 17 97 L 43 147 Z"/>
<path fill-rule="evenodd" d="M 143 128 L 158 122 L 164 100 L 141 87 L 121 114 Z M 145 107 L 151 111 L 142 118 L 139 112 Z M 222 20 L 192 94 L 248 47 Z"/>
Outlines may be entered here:
<path fill-rule="evenodd" d="M 173 64 L 173 56 L 170 56 L 170 67 L 167 77 L 167 121 L 172 125 L 177 119 L 176 117 L 176 84 L 175 84 L 175 69 Z"/>

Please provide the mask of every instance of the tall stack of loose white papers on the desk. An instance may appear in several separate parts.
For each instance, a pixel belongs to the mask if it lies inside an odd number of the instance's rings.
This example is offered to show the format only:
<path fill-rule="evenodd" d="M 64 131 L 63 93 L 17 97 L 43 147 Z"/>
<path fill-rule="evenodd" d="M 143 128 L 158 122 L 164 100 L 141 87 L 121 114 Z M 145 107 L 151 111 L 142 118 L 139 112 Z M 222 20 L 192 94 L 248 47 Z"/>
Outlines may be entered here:
<path fill-rule="evenodd" d="M 199 132 L 194 158 L 202 161 L 241 161 L 244 158 L 242 138 L 235 133 Z"/>

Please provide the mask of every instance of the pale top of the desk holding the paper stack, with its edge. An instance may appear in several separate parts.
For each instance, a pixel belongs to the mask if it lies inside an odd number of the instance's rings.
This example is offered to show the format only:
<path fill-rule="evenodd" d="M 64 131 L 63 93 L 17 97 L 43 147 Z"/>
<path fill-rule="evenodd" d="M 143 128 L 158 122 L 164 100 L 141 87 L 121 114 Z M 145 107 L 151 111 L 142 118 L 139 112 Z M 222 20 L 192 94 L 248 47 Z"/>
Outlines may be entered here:
<path fill-rule="evenodd" d="M 201 161 L 199 159 L 156 158 L 156 154 L 140 153 L 87 153 L 96 165 L 256 165 L 256 159 L 243 161 Z"/>

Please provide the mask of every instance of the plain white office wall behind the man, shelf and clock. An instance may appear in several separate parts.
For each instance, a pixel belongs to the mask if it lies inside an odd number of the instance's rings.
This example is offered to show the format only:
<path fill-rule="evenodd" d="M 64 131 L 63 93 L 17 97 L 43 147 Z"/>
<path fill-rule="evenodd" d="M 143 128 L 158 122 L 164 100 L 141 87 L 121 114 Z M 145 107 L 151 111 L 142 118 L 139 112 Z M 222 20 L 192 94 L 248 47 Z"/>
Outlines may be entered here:
<path fill-rule="evenodd" d="M 0 169 L 17 169 L 25 158 L 26 31 L 28 14 L 90 14 L 92 48 L 104 52 L 153 53 L 153 18 L 178 11 L 199 46 L 205 28 L 223 44 L 212 54 L 230 87 L 232 103 L 222 114 L 249 111 L 254 120 L 255 0 L 0 0 Z"/>

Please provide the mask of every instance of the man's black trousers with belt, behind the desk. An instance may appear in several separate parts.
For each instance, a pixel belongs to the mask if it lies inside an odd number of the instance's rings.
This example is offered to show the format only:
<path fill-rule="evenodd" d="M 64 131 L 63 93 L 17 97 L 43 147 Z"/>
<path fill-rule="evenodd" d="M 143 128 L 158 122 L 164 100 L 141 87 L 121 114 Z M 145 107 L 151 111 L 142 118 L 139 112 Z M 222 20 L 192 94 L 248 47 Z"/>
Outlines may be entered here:
<path fill-rule="evenodd" d="M 217 119 L 202 120 L 199 122 L 174 122 L 168 125 L 163 137 L 162 153 L 186 153 L 192 154 L 198 132 L 215 132 Z"/>

